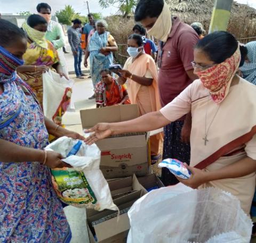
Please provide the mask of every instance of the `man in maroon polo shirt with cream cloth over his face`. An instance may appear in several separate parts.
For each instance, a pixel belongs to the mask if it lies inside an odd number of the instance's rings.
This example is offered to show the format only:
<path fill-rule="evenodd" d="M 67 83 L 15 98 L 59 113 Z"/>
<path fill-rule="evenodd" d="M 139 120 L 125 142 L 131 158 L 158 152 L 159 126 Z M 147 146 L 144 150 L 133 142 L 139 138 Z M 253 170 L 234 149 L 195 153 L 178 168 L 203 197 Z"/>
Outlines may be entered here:
<path fill-rule="evenodd" d="M 198 35 L 192 27 L 181 22 L 179 17 L 171 18 L 169 7 L 163 0 L 140 0 L 134 18 L 136 22 L 141 22 L 149 35 L 160 40 L 158 88 L 161 104 L 165 106 L 197 78 L 191 62 L 194 61 Z M 163 158 L 177 158 L 188 164 L 191 114 L 184 119 L 164 127 Z M 165 168 L 162 170 L 162 180 L 165 186 L 178 183 Z"/>

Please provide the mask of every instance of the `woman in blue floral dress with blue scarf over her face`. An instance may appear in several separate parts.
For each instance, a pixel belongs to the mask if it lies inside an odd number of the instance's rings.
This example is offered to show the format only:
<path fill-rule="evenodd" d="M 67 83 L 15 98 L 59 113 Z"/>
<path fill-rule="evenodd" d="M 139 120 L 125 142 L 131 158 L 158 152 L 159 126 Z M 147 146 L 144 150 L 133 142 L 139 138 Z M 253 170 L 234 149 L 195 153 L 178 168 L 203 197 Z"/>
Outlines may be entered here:
<path fill-rule="evenodd" d="M 47 118 L 16 73 L 27 49 L 24 32 L 0 20 L 0 242 L 68 243 L 70 228 L 54 192 L 50 168 L 68 166 L 45 152 L 48 133 L 83 139 Z"/>

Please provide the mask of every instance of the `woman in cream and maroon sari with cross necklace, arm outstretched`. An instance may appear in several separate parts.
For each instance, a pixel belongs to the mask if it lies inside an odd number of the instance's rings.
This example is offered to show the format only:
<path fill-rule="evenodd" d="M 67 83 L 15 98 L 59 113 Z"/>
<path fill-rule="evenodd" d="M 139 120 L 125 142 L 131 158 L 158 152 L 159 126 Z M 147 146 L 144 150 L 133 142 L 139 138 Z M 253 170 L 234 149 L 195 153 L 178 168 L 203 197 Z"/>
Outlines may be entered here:
<path fill-rule="evenodd" d="M 245 55 L 245 48 L 228 32 L 205 36 L 194 51 L 198 80 L 158 112 L 95 125 L 87 143 L 117 133 L 161 128 L 191 111 L 188 169 L 192 174 L 190 179 L 179 180 L 192 188 L 228 191 L 249 214 L 256 179 L 256 86 L 237 76 Z"/>

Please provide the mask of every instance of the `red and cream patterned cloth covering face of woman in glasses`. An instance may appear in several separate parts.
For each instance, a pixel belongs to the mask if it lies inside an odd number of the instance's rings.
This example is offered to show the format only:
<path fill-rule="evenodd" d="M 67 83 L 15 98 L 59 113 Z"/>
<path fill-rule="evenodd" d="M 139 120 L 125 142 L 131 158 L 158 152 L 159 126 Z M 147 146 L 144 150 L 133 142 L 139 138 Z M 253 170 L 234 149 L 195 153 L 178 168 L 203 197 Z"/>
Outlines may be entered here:
<path fill-rule="evenodd" d="M 227 97 L 231 81 L 239 69 L 240 61 L 241 53 L 238 46 L 236 52 L 227 58 L 226 61 L 212 68 L 195 72 L 203 83 L 203 86 L 209 89 L 215 103 L 219 104 Z"/>

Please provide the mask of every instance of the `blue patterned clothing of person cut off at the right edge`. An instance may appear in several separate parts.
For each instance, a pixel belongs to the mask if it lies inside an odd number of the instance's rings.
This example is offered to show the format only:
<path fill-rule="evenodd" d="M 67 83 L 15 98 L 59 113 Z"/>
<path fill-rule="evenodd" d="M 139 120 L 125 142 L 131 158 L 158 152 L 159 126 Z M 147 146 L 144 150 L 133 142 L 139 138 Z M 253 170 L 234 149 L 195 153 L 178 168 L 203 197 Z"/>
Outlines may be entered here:
<path fill-rule="evenodd" d="M 241 67 L 242 77 L 256 85 L 256 41 L 251 41 L 245 45 L 247 48 L 247 58 Z"/>

